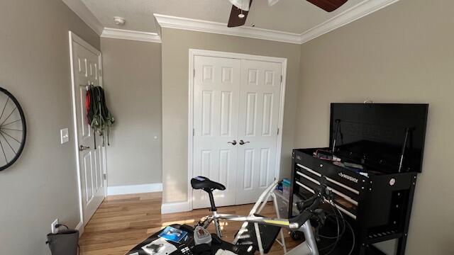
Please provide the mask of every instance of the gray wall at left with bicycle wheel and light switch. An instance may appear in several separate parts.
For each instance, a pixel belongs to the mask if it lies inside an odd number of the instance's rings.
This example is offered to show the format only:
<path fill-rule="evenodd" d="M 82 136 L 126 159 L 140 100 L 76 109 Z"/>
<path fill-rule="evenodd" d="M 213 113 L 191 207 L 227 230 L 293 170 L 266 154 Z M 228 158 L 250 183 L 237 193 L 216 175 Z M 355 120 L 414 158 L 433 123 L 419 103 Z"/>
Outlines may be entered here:
<path fill-rule="evenodd" d="M 79 222 L 68 30 L 98 49 L 99 36 L 60 0 L 0 1 L 0 16 L 0 86 L 28 124 L 21 158 L 0 172 L 0 254 L 50 254 L 50 223 Z"/>

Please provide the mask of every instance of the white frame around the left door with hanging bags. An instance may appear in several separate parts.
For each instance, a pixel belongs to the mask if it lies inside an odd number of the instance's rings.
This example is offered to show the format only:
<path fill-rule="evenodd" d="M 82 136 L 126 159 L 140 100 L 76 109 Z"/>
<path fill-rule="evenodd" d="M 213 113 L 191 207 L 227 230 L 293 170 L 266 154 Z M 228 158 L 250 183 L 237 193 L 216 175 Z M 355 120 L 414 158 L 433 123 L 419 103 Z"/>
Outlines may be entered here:
<path fill-rule="evenodd" d="M 82 45 L 83 47 L 86 47 L 88 50 L 92 52 L 96 52 L 97 55 L 99 55 L 99 63 L 102 63 L 102 54 L 99 50 L 97 50 L 95 47 L 90 45 L 88 42 L 80 38 L 78 35 L 73 33 L 72 31 L 69 31 L 69 38 L 70 38 L 70 62 L 71 62 L 71 97 L 72 97 L 72 120 L 73 120 L 73 130 L 74 130 L 74 149 L 76 153 L 76 166 L 77 166 L 77 188 L 78 188 L 78 193 L 79 193 L 79 215 L 80 215 L 80 221 L 79 224 L 77 224 L 76 229 L 79 229 L 79 235 L 81 235 L 84 232 L 84 210 L 82 207 L 82 179 L 81 179 L 81 173 L 80 173 L 80 164 L 79 164 L 79 130 L 77 128 L 77 111 L 76 111 L 76 94 L 75 94 L 75 74 L 74 74 L 74 56 L 72 54 L 73 50 L 73 42 L 77 42 L 79 45 Z M 102 70 L 102 65 L 99 65 L 99 68 Z M 99 85 L 102 86 L 102 72 L 99 72 Z M 104 149 L 104 169 L 103 173 L 105 176 L 107 176 L 107 167 L 106 167 L 106 149 Z M 104 198 L 106 197 L 106 187 L 107 187 L 107 178 L 104 179 Z"/>

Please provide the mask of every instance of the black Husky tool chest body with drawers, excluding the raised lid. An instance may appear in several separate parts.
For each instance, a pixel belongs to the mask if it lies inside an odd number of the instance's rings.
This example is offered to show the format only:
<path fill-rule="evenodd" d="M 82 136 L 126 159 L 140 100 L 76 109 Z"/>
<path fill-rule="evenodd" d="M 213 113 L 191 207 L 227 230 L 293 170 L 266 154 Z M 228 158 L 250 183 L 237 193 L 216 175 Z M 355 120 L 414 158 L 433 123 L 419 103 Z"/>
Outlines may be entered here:
<path fill-rule="evenodd" d="M 367 178 L 314 158 L 315 150 L 293 151 L 291 193 L 294 196 L 290 196 L 290 204 L 295 197 L 309 198 L 326 178 L 336 206 L 355 229 L 358 240 L 355 254 L 365 254 L 370 244 L 396 238 L 400 251 L 397 254 L 404 254 L 416 173 L 374 174 Z M 292 211 L 289 214 L 295 215 Z"/>

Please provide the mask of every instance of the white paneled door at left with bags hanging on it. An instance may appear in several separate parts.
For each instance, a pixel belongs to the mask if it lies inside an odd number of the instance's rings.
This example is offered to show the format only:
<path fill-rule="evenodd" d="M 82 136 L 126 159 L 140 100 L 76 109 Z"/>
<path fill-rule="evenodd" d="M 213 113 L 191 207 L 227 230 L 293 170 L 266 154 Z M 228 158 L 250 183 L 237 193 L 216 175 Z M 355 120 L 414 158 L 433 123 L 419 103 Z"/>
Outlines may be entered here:
<path fill-rule="evenodd" d="M 104 155 L 102 139 L 96 135 L 87 123 L 85 95 L 87 86 L 101 86 L 101 52 L 94 50 L 80 38 L 74 40 L 72 35 L 72 72 L 74 74 L 74 102 L 77 123 L 77 147 L 79 153 L 80 195 L 84 225 L 106 195 L 104 182 Z"/>

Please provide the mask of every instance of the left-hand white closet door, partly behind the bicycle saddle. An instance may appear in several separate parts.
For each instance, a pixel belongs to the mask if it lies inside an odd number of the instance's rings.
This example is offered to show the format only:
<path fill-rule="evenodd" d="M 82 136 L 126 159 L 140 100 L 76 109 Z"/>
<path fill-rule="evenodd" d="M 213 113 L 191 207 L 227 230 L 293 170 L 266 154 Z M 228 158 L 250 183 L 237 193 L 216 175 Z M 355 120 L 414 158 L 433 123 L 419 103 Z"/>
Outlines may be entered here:
<path fill-rule="evenodd" d="M 216 205 L 236 203 L 240 60 L 194 57 L 194 176 L 226 186 L 214 192 Z M 175 123 L 175 125 L 178 125 Z M 209 207 L 204 191 L 194 191 L 193 208 Z"/>

